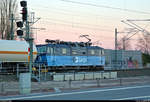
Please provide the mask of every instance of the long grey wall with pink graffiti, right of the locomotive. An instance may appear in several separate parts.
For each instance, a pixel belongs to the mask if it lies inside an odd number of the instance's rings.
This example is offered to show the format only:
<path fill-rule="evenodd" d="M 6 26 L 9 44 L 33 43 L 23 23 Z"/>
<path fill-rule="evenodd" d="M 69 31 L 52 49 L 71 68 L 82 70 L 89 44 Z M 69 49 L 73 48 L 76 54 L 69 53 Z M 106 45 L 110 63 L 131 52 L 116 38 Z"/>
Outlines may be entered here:
<path fill-rule="evenodd" d="M 142 53 L 133 50 L 105 49 L 105 69 L 142 68 Z"/>

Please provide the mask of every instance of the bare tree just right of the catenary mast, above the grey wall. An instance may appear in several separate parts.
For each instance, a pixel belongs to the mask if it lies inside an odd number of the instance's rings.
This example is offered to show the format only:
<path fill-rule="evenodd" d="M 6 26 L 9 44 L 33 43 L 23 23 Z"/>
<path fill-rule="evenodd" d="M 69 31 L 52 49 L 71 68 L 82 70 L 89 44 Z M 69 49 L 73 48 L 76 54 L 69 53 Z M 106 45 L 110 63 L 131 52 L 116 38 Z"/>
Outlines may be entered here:
<path fill-rule="evenodd" d="M 131 49 L 130 39 L 128 39 L 126 36 L 123 36 L 120 41 L 118 41 L 117 48 L 123 50 Z"/>

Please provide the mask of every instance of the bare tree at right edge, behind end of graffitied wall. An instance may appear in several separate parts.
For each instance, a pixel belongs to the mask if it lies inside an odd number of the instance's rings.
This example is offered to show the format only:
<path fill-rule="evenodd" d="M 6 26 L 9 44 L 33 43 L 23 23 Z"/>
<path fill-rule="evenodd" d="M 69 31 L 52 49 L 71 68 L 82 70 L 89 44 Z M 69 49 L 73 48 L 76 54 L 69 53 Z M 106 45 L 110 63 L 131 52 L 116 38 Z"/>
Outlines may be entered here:
<path fill-rule="evenodd" d="M 143 34 L 143 37 L 139 38 L 137 49 L 143 53 L 150 54 L 150 35 Z"/>

